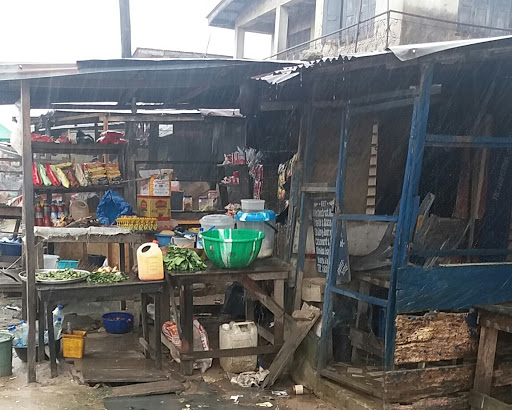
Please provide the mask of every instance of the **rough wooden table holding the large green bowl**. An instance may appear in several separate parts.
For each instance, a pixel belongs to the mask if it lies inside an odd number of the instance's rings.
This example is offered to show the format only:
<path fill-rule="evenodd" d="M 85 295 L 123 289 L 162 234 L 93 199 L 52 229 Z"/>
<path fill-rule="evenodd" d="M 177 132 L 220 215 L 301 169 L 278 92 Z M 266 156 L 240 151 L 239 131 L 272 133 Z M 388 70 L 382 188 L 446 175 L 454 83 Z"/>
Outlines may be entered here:
<path fill-rule="evenodd" d="M 207 269 L 200 272 L 168 272 L 167 279 L 171 290 L 180 289 L 180 320 L 178 330 L 181 338 L 181 371 L 191 375 L 195 360 L 220 357 L 249 356 L 277 353 L 283 345 L 284 339 L 284 285 L 291 271 L 291 266 L 277 258 L 257 259 L 251 266 L 244 269 L 221 269 L 206 262 Z M 272 281 L 274 284 L 273 296 L 268 295 L 257 282 Z M 274 314 L 273 334 L 258 326 L 258 334 L 271 344 L 237 349 L 217 349 L 193 351 L 193 295 L 194 283 L 240 283 L 245 291 L 254 299 L 260 301 Z M 174 302 L 174 298 L 171 298 Z M 254 319 L 252 300 L 246 298 L 246 316 L 248 320 Z M 167 339 L 162 335 L 162 342 L 168 345 Z"/>

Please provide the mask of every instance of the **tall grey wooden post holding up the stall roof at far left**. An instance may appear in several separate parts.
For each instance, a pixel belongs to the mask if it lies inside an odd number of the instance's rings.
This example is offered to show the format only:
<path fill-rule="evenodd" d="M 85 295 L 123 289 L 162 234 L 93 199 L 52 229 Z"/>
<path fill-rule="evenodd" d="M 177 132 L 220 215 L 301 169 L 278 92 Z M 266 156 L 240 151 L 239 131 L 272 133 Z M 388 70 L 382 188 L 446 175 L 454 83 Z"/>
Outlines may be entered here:
<path fill-rule="evenodd" d="M 32 132 L 30 128 L 30 85 L 21 81 L 21 129 L 23 162 L 23 221 L 25 223 L 25 250 L 27 267 L 27 318 L 28 318 L 28 382 L 36 381 L 36 258 L 34 252 L 34 184 L 32 183 Z"/>

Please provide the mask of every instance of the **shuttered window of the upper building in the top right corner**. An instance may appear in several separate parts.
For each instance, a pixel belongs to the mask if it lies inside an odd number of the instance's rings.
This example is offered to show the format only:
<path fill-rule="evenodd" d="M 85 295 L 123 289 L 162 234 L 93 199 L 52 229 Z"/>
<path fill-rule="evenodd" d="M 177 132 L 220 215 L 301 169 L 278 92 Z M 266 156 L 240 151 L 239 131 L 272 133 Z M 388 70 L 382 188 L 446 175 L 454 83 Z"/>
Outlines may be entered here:
<path fill-rule="evenodd" d="M 496 28 L 509 29 L 512 2 L 510 0 L 460 0 L 458 31 L 481 36 L 500 36 L 507 33 Z M 470 27 L 474 24 L 483 27 Z"/>

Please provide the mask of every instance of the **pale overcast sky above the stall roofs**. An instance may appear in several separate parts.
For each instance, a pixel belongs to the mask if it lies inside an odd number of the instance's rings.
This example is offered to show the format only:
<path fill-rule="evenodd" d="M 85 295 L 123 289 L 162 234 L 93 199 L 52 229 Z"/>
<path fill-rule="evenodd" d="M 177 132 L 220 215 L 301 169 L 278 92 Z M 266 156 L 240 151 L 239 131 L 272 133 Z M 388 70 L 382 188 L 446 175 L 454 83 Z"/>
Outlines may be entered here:
<path fill-rule="evenodd" d="M 137 47 L 233 55 L 234 31 L 208 26 L 219 0 L 130 0 Z M 0 62 L 75 62 L 121 57 L 118 0 L 0 1 Z M 270 56 L 270 37 L 247 33 L 246 58 Z M 13 108 L 0 106 L 8 128 Z M 14 111 L 15 112 L 15 111 Z"/>

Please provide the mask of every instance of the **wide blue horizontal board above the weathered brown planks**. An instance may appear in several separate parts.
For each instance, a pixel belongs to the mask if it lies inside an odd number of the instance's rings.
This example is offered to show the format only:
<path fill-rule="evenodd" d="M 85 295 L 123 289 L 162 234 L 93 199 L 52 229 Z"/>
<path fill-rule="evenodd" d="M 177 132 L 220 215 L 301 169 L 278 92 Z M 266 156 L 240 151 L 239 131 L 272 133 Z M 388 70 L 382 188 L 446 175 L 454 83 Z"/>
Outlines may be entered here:
<path fill-rule="evenodd" d="M 461 286 L 466 284 L 466 286 Z M 462 310 L 510 301 L 512 264 L 406 267 L 398 270 L 396 310 Z"/>

